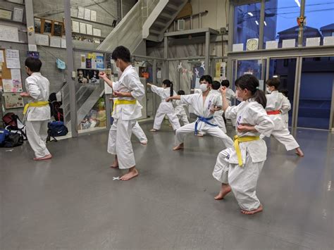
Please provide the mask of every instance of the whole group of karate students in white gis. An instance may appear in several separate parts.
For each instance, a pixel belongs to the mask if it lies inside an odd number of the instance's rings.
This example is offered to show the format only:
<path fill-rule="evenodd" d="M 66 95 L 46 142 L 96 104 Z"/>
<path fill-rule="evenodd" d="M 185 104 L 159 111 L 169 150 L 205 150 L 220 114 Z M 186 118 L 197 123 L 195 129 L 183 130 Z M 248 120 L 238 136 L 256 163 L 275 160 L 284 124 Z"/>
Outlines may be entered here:
<path fill-rule="evenodd" d="M 99 73 L 99 77 L 113 88 L 113 95 L 116 96 L 107 151 L 115 155 L 111 167 L 128 170 L 120 180 L 130 180 L 138 175 L 131 144 L 132 132 L 143 144 L 147 144 L 147 137 L 137 123 L 137 119 L 142 116 L 139 100 L 144 97 L 144 85 L 130 63 L 130 51 L 127 48 L 116 47 L 112 58 L 118 68 L 118 81 L 113 82 L 106 73 Z M 49 109 L 47 111 L 44 108 L 49 96 L 49 82 L 39 73 L 42 65 L 39 59 L 27 58 L 25 65 L 30 77 L 25 82 L 27 92 L 21 96 L 30 97 L 26 108 L 27 137 L 35 151 L 34 159 L 44 160 L 51 158 L 44 138 L 44 123 L 50 118 Z M 199 82 L 199 91 L 196 90 L 194 94 L 185 94 L 183 91 L 176 94 L 170 80 L 164 80 L 163 87 L 147 84 L 152 92 L 161 97 L 151 131 L 160 130 L 163 118 L 167 115 L 175 130 L 173 150 L 183 149 L 185 137 L 190 133 L 205 133 L 221 139 L 225 149 L 218 154 L 214 166 L 213 176 L 221 182 L 220 192 L 215 199 L 223 199 L 232 191 L 242 213 L 262 211 L 263 207 L 256 196 L 256 183 L 267 155 L 263 137 L 273 135 L 287 150 L 295 149 L 297 155 L 304 156 L 285 123 L 285 114 L 291 108 L 290 102 L 278 92 L 280 82 L 276 78 L 266 82 L 266 91 L 271 93 L 266 95 L 259 89 L 259 80 L 253 75 L 239 77 L 235 81 L 235 93 L 228 88 L 228 81 L 213 82 L 209 75 L 202 76 Z M 231 106 L 234 96 L 240 101 L 237 106 Z M 185 106 L 192 106 L 197 115 L 193 123 L 187 120 Z M 183 122 L 182 127 L 179 118 Z M 235 125 L 236 135 L 233 139 L 226 135 L 225 119 Z"/>

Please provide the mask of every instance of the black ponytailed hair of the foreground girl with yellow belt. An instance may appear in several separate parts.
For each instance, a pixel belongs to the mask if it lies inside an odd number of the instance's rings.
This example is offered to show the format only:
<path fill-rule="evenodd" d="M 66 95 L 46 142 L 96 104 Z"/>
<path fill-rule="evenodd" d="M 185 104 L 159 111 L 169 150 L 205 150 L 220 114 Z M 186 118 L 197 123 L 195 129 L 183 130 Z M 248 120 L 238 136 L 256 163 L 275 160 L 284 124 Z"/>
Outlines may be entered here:
<path fill-rule="evenodd" d="M 235 81 L 235 86 L 239 87 L 240 89 L 247 89 L 248 91 L 252 92 L 252 98 L 254 98 L 255 101 L 266 108 L 266 95 L 262 90 L 259 89 L 259 80 L 257 80 L 254 75 L 242 75 Z"/>

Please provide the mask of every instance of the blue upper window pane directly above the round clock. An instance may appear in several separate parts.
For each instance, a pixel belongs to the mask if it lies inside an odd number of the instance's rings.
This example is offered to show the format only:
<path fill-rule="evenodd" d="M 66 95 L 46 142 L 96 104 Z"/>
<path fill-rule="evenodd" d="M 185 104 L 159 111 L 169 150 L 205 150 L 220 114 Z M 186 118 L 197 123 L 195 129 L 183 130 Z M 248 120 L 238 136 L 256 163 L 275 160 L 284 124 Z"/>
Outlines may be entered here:
<path fill-rule="evenodd" d="M 247 39 L 259 38 L 261 3 L 235 6 L 233 44 L 244 44 Z"/>

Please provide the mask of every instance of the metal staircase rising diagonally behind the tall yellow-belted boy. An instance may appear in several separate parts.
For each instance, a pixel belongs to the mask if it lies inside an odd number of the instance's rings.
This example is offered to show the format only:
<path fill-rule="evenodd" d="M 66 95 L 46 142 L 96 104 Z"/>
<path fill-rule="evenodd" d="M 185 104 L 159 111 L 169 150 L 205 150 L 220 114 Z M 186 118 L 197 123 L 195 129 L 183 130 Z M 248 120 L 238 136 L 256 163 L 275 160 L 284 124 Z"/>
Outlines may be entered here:
<path fill-rule="evenodd" d="M 125 15 L 97 50 L 113 51 L 123 45 L 133 54 L 146 39 L 160 42 L 163 33 L 182 10 L 187 0 L 139 0 Z M 64 119 L 70 123 L 70 102 L 68 84 L 61 89 L 63 96 Z M 75 94 L 78 107 L 78 125 L 89 113 L 100 96 L 104 94 L 104 83 L 99 86 L 80 86 Z"/>

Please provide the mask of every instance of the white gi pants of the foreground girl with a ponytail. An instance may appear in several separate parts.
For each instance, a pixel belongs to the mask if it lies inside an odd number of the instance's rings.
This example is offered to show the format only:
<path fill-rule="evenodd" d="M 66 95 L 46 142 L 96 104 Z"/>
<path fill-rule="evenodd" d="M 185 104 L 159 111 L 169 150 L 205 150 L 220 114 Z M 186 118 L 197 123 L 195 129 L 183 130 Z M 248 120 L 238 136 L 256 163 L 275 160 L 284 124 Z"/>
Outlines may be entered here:
<path fill-rule="evenodd" d="M 242 210 L 252 211 L 259 208 L 260 201 L 256 196 L 256 184 L 264 161 L 253 163 L 247 153 L 245 165 L 228 162 L 228 157 L 234 149 L 225 149 L 218 154 L 212 175 L 221 183 L 229 184 Z"/>

